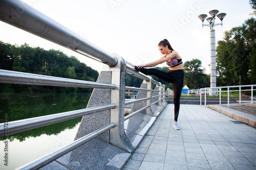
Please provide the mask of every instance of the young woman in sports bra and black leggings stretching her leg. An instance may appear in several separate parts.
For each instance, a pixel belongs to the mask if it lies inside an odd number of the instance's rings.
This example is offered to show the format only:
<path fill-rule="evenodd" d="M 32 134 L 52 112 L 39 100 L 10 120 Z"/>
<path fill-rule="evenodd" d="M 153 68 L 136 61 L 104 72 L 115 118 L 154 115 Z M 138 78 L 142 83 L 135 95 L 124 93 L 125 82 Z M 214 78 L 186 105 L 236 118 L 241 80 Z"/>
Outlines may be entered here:
<path fill-rule="evenodd" d="M 174 128 L 180 130 L 177 123 L 179 110 L 180 110 L 180 95 L 183 86 L 184 72 L 183 64 L 180 55 L 174 51 L 172 46 L 167 39 L 159 42 L 158 49 L 163 56 L 153 62 L 147 64 L 141 64 L 135 66 L 135 69 L 139 70 L 145 75 L 154 75 L 168 83 L 173 83 L 174 86 Z M 158 64 L 166 62 L 169 66 L 168 72 L 164 72 L 154 68 L 144 68 L 144 67 L 154 67 Z"/>

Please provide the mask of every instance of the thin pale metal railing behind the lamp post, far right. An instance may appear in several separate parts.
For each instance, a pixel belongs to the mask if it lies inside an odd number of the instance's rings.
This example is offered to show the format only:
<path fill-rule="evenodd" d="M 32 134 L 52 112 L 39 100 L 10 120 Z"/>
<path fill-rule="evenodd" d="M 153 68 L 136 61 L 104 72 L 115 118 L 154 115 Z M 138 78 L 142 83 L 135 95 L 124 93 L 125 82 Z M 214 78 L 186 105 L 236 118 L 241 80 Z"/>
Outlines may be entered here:
<path fill-rule="evenodd" d="M 250 89 L 241 89 L 245 87 L 250 87 Z M 251 104 L 253 104 L 253 87 L 256 87 L 256 85 L 241 85 L 241 86 L 222 86 L 222 87 L 206 87 L 200 89 L 200 105 L 202 105 L 202 94 L 204 94 L 204 106 L 206 107 L 206 95 L 212 93 L 210 89 L 217 90 L 217 92 L 220 95 L 220 104 L 221 104 L 221 93 L 227 92 L 227 105 L 229 106 L 229 92 L 239 91 L 239 103 L 241 103 L 241 91 L 251 91 Z M 239 90 L 230 90 L 230 88 L 239 88 Z M 227 89 L 223 91 L 222 89 Z M 204 93 L 203 93 L 204 91 Z"/>

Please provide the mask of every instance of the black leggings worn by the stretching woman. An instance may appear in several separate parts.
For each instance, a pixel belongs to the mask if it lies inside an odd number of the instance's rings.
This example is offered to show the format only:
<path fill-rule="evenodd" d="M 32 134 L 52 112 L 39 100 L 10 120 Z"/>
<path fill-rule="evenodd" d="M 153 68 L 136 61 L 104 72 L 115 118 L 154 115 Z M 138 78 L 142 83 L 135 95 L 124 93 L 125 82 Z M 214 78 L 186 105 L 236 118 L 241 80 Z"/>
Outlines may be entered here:
<path fill-rule="evenodd" d="M 159 79 L 162 79 L 168 83 L 173 83 L 174 85 L 174 120 L 177 122 L 179 111 L 180 111 L 180 95 L 182 92 L 184 72 L 183 69 L 179 70 L 168 70 L 168 72 L 164 72 L 155 68 L 138 68 L 135 66 L 137 70 L 142 72 L 145 75 L 154 75 Z"/>

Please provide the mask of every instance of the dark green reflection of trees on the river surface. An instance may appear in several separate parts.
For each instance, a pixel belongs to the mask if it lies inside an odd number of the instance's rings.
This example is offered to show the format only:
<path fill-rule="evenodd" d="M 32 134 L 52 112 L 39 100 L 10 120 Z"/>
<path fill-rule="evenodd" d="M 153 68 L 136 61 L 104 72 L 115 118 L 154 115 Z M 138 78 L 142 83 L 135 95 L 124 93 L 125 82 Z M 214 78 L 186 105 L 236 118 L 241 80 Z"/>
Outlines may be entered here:
<path fill-rule="evenodd" d="M 1 93 L 0 95 L 0 123 L 4 122 L 4 114 L 9 116 L 8 122 L 13 120 L 44 116 L 54 113 L 67 112 L 86 108 L 91 93 Z M 32 129 L 9 135 L 10 141 L 18 139 L 24 141 L 29 137 L 42 134 L 56 135 L 66 129 L 73 129 L 81 117 L 65 122 Z M 4 140 L 5 138 L 0 138 Z"/>

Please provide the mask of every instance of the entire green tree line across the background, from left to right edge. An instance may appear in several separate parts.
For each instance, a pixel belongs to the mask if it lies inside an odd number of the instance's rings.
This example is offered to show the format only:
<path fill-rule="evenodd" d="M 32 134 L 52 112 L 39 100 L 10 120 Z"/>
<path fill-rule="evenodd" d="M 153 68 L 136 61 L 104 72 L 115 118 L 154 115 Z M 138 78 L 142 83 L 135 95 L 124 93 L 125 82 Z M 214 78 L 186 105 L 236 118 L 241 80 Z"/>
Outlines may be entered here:
<path fill-rule="evenodd" d="M 256 14 L 256 1 L 250 0 Z M 224 32 L 224 38 L 218 41 L 216 48 L 217 86 L 256 84 L 256 19 L 247 19 L 242 26 Z M 184 85 L 190 89 L 210 87 L 210 75 L 204 73 L 202 61 L 192 59 L 183 64 Z M 155 67 L 168 71 L 168 67 Z M 98 72 L 74 56 L 60 51 L 44 50 L 40 47 L 11 45 L 0 41 L 0 69 L 29 72 L 39 75 L 96 81 Z M 173 89 L 172 83 L 152 76 L 166 88 Z M 141 79 L 126 74 L 126 86 L 140 87 Z M 0 84 L 0 92 L 91 92 L 88 88 L 52 87 Z"/>

